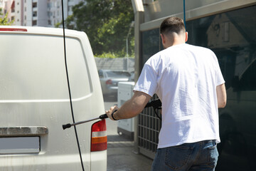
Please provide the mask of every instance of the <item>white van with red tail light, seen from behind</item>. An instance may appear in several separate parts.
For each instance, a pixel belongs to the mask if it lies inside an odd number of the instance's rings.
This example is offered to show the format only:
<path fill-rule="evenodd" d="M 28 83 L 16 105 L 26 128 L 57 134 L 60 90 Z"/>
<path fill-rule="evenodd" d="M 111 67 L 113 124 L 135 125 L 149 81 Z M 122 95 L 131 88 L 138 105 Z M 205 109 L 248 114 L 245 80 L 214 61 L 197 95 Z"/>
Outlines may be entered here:
<path fill-rule="evenodd" d="M 87 35 L 65 36 L 75 122 L 97 118 L 105 107 Z M 0 39 L 0 170 L 107 170 L 105 120 L 77 125 L 78 139 L 62 128 L 73 123 L 63 29 L 0 26 Z"/>

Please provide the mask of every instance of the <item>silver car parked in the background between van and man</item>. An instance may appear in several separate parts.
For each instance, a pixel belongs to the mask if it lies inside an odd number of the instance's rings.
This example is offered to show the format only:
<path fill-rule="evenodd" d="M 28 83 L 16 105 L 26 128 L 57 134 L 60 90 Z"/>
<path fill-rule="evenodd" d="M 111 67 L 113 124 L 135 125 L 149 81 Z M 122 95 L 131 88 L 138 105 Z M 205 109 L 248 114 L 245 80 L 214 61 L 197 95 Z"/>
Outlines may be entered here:
<path fill-rule="evenodd" d="M 117 95 L 118 83 L 128 81 L 131 74 L 128 71 L 105 70 L 98 71 L 103 95 Z"/>

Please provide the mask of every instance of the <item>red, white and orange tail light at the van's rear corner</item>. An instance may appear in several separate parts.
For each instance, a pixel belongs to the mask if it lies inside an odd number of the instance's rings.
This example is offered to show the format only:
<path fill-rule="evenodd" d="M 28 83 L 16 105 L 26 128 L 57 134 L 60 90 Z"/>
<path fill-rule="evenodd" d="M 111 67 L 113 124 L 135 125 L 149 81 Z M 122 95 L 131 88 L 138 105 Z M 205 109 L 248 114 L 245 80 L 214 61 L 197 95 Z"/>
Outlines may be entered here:
<path fill-rule="evenodd" d="M 107 150 L 106 120 L 92 125 L 91 152 Z"/>

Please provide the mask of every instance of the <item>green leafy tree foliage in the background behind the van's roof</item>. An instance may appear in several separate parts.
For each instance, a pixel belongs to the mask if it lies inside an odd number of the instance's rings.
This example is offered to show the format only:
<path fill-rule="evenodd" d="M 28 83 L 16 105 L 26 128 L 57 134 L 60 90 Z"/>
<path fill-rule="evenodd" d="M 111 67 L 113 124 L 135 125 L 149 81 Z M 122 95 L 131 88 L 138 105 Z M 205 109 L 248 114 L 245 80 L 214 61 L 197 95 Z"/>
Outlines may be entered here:
<path fill-rule="evenodd" d="M 87 0 L 73 6 L 67 28 L 85 31 L 96 56 L 125 56 L 126 38 L 134 20 L 131 0 Z M 134 54 L 134 31 L 129 33 L 129 54 Z"/>

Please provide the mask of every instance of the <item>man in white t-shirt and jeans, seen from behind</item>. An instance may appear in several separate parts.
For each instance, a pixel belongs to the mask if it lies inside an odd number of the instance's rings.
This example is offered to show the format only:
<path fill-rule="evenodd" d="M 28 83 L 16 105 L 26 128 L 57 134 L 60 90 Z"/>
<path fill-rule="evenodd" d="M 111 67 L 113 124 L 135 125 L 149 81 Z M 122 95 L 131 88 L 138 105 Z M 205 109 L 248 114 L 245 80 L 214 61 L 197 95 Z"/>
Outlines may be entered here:
<path fill-rule="evenodd" d="M 162 127 L 151 170 L 215 170 L 218 108 L 226 103 L 218 59 L 210 49 L 186 43 L 182 19 L 165 19 L 160 33 L 165 49 L 146 61 L 133 97 L 106 113 L 112 120 L 132 118 L 156 93 Z"/>

